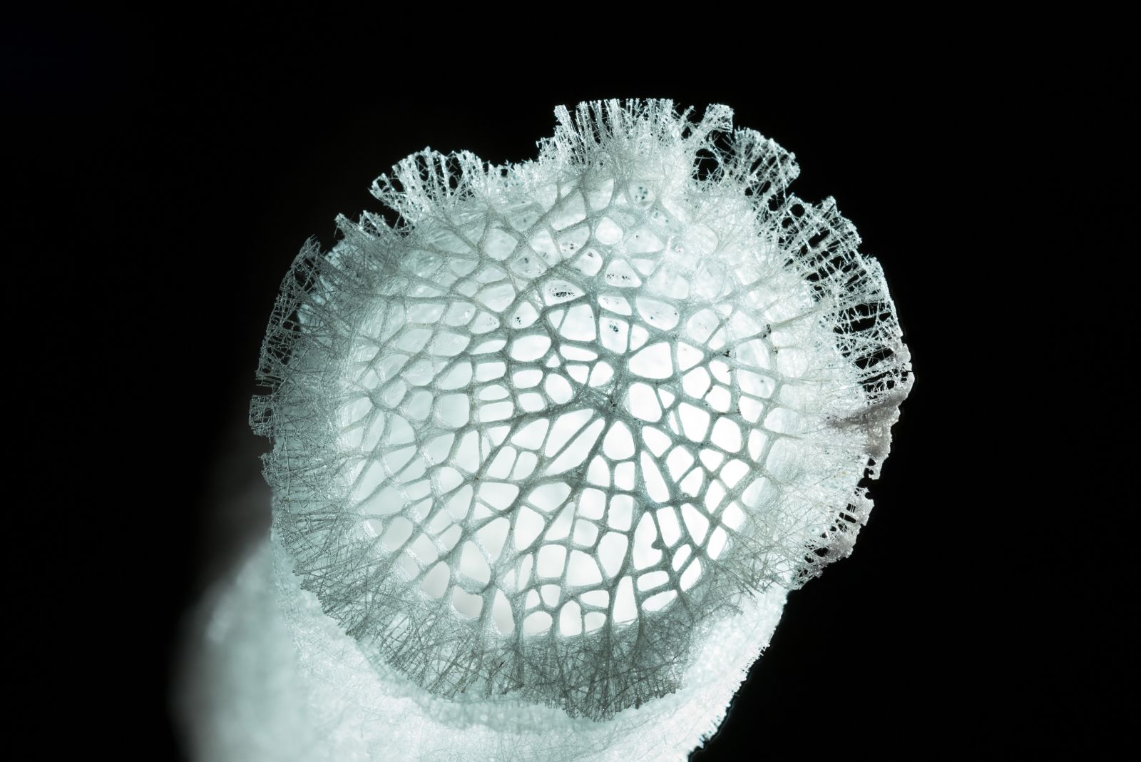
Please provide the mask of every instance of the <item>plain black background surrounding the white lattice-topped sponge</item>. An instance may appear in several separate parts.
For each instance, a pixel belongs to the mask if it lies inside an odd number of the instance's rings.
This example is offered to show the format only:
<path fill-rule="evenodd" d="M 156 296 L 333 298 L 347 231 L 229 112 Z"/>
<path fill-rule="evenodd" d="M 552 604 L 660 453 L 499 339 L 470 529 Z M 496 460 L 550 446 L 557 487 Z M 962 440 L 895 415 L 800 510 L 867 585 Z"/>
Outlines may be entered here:
<path fill-rule="evenodd" d="M 834 196 L 883 265 L 916 376 L 856 552 L 791 595 L 694 759 L 1110 754 L 1136 716 L 1135 498 L 1120 497 L 1135 92 L 1111 37 L 1070 30 L 1093 46 L 1078 50 L 976 30 L 825 59 L 816 37 L 779 55 L 744 37 L 556 52 L 483 19 L 452 30 L 462 44 L 435 22 L 364 40 L 354 24 L 6 30 L 11 159 L 56 224 L 33 237 L 79 222 L 84 242 L 24 251 L 82 294 L 81 321 L 48 325 L 102 381 L 80 438 L 106 461 L 98 489 L 60 504 L 64 576 L 88 584 L 30 595 L 47 601 L 32 640 L 78 656 L 11 665 L 42 696 L 22 716 L 58 716 L 62 691 L 88 707 L 84 748 L 180 759 L 168 704 L 186 613 L 268 521 L 245 410 L 298 249 L 331 245 L 339 212 L 379 211 L 372 179 L 426 145 L 521 161 L 556 105 L 637 96 L 728 104 L 796 154 L 793 189 Z M 74 364 L 48 367 L 75 394 Z M 84 511 L 104 501 L 96 526 Z"/>

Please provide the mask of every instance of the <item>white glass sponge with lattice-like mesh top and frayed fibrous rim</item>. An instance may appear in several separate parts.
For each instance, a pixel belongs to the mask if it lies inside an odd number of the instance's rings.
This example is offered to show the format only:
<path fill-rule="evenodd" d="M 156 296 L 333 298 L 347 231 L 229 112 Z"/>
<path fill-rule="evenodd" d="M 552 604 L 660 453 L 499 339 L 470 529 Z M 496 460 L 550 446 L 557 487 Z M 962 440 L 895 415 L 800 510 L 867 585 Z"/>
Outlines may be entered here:
<path fill-rule="evenodd" d="M 834 202 L 725 106 L 556 114 L 405 159 L 398 224 L 284 281 L 251 420 L 307 759 L 683 759 L 872 508 L 909 357 Z"/>

